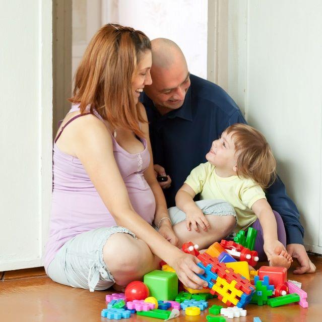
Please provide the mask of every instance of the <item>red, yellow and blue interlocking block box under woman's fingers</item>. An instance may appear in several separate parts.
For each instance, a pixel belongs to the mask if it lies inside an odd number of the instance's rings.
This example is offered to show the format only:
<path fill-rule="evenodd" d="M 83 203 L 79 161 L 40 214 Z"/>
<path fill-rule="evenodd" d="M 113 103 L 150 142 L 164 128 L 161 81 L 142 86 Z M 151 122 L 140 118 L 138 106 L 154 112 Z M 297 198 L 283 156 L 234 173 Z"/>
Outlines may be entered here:
<path fill-rule="evenodd" d="M 217 294 L 218 298 L 228 306 L 243 307 L 250 302 L 255 292 L 250 281 L 207 252 L 199 254 L 198 259 L 201 260 L 198 266 L 205 271 L 205 274 L 199 276 L 208 282 L 211 294 Z"/>

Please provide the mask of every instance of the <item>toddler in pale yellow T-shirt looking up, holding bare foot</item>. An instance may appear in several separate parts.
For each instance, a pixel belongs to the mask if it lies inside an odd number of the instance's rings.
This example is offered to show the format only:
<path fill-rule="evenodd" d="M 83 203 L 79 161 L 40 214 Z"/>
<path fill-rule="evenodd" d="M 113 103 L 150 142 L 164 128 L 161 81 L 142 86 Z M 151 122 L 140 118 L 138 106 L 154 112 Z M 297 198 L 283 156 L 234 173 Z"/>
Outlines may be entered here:
<path fill-rule="evenodd" d="M 235 231 L 258 218 L 270 265 L 289 268 L 292 257 L 278 240 L 277 222 L 263 190 L 276 177 L 276 161 L 265 137 L 249 125 L 233 124 L 212 143 L 206 159 L 191 171 L 175 197 L 177 208 L 185 213 L 187 229 L 209 227 L 207 216 L 193 200 L 197 194 L 201 200 L 223 199 L 235 208 Z"/>

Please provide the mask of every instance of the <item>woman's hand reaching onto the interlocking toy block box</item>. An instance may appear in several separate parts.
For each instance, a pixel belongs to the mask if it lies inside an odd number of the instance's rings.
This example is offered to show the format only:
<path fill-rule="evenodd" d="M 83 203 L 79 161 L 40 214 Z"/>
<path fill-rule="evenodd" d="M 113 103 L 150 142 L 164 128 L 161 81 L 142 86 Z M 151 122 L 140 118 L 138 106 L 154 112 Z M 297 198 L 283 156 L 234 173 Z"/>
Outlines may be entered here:
<path fill-rule="evenodd" d="M 204 274 L 205 271 L 197 263 L 200 260 L 196 256 L 182 252 L 169 265 L 175 270 L 179 280 L 188 288 L 201 290 L 207 287 L 208 283 L 202 280 L 197 274 Z"/>

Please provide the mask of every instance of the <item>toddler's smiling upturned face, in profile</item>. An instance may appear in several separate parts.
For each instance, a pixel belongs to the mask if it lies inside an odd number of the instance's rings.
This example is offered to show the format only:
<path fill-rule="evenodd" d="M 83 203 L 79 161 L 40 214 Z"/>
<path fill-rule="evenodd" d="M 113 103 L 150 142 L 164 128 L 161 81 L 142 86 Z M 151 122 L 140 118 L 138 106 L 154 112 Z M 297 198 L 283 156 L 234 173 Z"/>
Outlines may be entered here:
<path fill-rule="evenodd" d="M 206 159 L 218 169 L 231 171 L 231 175 L 236 172 L 237 156 L 235 155 L 235 144 L 231 139 L 232 133 L 227 135 L 224 132 L 218 140 L 215 140 L 210 151 L 206 154 Z"/>

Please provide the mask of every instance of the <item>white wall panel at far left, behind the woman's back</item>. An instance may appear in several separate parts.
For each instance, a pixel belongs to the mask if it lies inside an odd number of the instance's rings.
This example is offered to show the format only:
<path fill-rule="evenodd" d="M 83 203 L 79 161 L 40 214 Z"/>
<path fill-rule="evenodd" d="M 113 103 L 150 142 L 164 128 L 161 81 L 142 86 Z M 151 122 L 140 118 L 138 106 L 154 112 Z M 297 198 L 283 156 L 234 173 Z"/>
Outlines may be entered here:
<path fill-rule="evenodd" d="M 51 195 L 51 1 L 2 3 L 0 271 L 41 265 Z"/>

